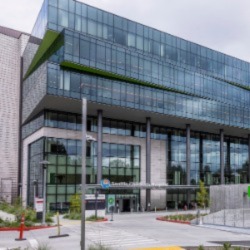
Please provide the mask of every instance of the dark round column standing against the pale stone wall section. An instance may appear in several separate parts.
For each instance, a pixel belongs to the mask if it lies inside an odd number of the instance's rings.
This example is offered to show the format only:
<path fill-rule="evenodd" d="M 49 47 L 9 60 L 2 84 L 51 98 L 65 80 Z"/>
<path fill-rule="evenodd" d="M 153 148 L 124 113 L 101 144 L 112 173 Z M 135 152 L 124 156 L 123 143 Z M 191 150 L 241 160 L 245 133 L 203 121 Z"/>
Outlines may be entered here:
<path fill-rule="evenodd" d="M 146 183 L 151 183 L 151 120 L 146 119 Z M 146 207 L 147 211 L 151 206 L 150 189 L 146 189 Z M 150 206 L 149 206 L 150 205 Z"/>

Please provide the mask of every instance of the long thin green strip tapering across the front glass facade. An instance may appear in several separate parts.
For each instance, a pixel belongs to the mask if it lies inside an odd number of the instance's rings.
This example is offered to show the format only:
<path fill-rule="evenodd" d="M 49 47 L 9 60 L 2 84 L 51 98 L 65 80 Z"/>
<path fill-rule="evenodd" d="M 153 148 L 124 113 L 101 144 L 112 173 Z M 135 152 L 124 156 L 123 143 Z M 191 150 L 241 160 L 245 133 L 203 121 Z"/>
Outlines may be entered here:
<path fill-rule="evenodd" d="M 70 69 L 80 71 L 80 72 L 87 72 L 87 73 L 90 73 L 90 74 L 99 75 L 99 76 L 109 78 L 109 79 L 116 79 L 116 80 L 119 80 L 119 81 L 134 83 L 134 84 L 143 85 L 143 86 L 147 86 L 147 87 L 151 87 L 151 88 L 155 88 L 155 89 L 167 90 L 167 91 L 175 92 L 175 93 L 179 93 L 179 94 L 199 97 L 197 95 L 185 93 L 184 91 L 175 90 L 175 89 L 172 89 L 172 88 L 164 87 L 164 86 L 161 86 L 161 85 L 158 85 L 158 84 L 153 84 L 153 83 L 150 83 L 150 82 L 140 81 L 140 80 L 137 80 L 137 79 L 134 79 L 134 78 L 118 75 L 118 74 L 115 74 L 115 73 L 112 73 L 112 72 L 107 72 L 107 71 L 104 71 L 104 70 L 92 68 L 92 67 L 77 64 L 77 63 L 74 63 L 74 62 L 63 61 L 63 62 L 60 63 L 60 66 L 64 67 L 64 68 L 70 68 Z"/>

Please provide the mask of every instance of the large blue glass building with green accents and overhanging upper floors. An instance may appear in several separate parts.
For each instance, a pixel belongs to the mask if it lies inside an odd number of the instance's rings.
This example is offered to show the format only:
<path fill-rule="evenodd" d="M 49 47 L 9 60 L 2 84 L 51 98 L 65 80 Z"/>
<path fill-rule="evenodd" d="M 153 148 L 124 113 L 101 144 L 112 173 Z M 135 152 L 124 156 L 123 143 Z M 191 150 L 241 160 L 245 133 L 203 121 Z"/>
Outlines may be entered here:
<path fill-rule="evenodd" d="M 82 98 L 96 138 L 87 143 L 89 184 L 171 186 L 106 191 L 120 211 L 191 204 L 199 180 L 249 182 L 248 62 L 84 3 L 45 0 L 24 52 L 22 95 L 28 204 L 34 180 L 42 196 L 44 159 L 48 209 L 67 209 L 79 191 Z"/>

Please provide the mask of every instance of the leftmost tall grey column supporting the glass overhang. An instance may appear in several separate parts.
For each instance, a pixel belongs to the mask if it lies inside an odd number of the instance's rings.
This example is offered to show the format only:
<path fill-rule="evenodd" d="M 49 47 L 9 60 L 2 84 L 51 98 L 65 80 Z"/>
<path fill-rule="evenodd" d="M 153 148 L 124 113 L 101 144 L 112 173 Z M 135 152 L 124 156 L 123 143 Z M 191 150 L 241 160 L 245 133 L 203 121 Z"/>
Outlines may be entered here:
<path fill-rule="evenodd" d="M 102 179 L 102 110 L 97 111 L 97 123 L 98 123 L 98 131 L 97 131 L 97 183 L 101 183 Z"/>

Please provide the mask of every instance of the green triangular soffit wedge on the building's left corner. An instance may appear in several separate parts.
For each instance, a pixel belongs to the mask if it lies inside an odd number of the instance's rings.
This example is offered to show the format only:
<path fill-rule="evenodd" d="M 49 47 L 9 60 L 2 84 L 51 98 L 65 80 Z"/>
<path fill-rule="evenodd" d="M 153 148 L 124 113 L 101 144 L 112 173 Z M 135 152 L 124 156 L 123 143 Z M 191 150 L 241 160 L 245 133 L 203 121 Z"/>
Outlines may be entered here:
<path fill-rule="evenodd" d="M 60 33 L 52 30 L 46 31 L 44 38 L 42 39 L 42 42 L 39 45 L 37 52 L 24 76 L 24 79 L 30 76 L 56 49 L 61 47 L 62 44 L 58 44 L 59 46 L 55 47 L 53 46 L 55 45 L 55 42 L 58 41 L 58 37 L 60 37 Z M 52 47 L 54 47 L 54 49 L 51 50 Z"/>

